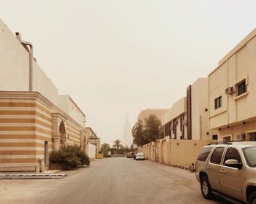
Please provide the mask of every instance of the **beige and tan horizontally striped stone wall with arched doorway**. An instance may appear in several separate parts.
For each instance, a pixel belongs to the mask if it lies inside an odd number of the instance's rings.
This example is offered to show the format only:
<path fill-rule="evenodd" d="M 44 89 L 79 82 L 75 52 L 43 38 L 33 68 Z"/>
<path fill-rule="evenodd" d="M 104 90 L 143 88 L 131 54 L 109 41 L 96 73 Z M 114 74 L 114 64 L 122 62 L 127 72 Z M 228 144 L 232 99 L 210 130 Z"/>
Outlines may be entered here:
<path fill-rule="evenodd" d="M 36 170 L 38 159 L 48 168 L 45 142 L 50 154 L 62 145 L 85 149 L 85 137 L 84 127 L 39 93 L 0 92 L 0 171 Z"/>

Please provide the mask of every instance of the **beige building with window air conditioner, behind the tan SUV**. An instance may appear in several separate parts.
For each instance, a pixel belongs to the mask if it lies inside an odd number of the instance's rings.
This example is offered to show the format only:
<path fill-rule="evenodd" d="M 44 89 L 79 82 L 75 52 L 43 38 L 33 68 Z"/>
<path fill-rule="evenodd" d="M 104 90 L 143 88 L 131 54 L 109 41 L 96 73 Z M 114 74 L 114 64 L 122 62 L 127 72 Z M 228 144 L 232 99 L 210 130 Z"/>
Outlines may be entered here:
<path fill-rule="evenodd" d="M 208 75 L 208 124 L 219 141 L 256 141 L 256 29 Z"/>

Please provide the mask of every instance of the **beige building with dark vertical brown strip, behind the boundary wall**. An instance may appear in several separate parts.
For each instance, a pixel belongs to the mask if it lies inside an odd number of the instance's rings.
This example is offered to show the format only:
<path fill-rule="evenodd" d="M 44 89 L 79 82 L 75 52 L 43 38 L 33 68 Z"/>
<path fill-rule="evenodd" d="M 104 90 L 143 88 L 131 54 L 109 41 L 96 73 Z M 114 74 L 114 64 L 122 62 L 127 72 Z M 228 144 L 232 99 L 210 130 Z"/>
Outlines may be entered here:
<path fill-rule="evenodd" d="M 165 137 L 188 140 L 217 140 L 208 129 L 208 79 L 199 78 L 187 87 L 187 97 L 176 101 L 162 116 Z"/>

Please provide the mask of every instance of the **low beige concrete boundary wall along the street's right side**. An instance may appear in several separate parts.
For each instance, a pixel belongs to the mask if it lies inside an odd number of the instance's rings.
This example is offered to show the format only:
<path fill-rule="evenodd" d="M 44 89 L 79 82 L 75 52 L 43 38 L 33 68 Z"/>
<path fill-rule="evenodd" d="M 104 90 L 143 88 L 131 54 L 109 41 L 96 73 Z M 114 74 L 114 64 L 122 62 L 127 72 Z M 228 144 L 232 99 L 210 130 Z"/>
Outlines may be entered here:
<path fill-rule="evenodd" d="M 146 160 L 187 168 L 195 165 L 197 155 L 211 140 L 174 140 L 163 138 L 143 145 Z"/>

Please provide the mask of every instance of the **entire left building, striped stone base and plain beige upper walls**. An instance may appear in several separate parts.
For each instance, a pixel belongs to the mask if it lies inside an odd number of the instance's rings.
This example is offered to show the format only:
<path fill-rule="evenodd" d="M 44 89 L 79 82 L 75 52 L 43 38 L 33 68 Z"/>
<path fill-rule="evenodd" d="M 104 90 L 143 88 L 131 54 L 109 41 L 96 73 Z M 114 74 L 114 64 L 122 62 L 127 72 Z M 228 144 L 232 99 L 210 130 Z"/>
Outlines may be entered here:
<path fill-rule="evenodd" d="M 33 45 L 0 19 L 0 171 L 39 170 L 39 163 L 43 170 L 65 145 L 86 151 L 85 119 L 69 95 L 58 95 Z"/>

